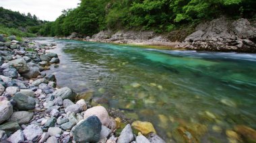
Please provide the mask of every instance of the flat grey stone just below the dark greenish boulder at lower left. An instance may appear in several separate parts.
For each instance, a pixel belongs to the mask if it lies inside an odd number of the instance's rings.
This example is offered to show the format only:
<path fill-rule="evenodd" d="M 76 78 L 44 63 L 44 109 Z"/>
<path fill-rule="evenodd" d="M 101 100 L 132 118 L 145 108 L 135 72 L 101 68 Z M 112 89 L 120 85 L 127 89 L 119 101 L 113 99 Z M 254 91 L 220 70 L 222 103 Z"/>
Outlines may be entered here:
<path fill-rule="evenodd" d="M 9 117 L 8 121 L 17 121 L 18 124 L 28 124 L 30 120 L 32 120 L 34 116 L 33 112 L 28 111 L 15 111 L 12 113 L 11 117 Z"/>

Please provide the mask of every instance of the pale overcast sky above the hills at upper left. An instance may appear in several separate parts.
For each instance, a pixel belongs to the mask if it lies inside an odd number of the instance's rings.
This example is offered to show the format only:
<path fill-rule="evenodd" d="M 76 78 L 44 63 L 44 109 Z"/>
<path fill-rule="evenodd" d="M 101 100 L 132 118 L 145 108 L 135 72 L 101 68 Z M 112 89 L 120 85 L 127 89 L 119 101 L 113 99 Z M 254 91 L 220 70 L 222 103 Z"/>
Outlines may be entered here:
<path fill-rule="evenodd" d="M 0 7 L 20 13 L 30 12 L 41 20 L 55 21 L 63 9 L 75 8 L 79 2 L 79 0 L 0 0 Z"/>

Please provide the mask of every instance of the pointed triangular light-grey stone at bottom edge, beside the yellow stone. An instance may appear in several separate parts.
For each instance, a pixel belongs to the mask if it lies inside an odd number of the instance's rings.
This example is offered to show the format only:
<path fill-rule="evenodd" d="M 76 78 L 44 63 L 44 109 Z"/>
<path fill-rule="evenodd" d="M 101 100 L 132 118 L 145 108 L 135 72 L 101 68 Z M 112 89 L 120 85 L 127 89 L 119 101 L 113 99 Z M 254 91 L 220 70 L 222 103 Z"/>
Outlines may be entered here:
<path fill-rule="evenodd" d="M 127 124 L 125 128 L 122 130 L 117 143 L 129 143 L 134 140 L 133 130 L 131 130 L 131 125 Z"/>

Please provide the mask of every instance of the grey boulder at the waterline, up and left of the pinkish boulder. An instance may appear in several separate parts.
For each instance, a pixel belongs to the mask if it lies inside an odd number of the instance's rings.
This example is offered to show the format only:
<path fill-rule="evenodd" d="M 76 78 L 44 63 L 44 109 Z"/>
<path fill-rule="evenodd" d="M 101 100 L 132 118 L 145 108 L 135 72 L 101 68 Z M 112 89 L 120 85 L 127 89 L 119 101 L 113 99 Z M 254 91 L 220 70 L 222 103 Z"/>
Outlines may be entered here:
<path fill-rule="evenodd" d="M 61 97 L 64 99 L 70 99 L 73 101 L 75 99 L 76 93 L 72 91 L 72 89 L 69 89 L 69 87 L 63 87 L 61 89 L 57 89 L 53 94 L 55 97 Z"/>

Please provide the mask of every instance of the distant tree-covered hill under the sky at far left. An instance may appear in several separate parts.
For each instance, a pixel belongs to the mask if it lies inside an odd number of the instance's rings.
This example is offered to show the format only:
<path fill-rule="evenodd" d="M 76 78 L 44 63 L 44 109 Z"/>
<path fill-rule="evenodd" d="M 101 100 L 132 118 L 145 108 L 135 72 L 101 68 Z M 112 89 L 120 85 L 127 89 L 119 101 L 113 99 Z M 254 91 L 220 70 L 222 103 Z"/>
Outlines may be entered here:
<path fill-rule="evenodd" d="M 39 26 L 44 21 L 39 20 L 36 15 L 20 13 L 0 7 L 0 26 L 5 28 L 17 28 L 26 31 L 29 27 Z"/>

